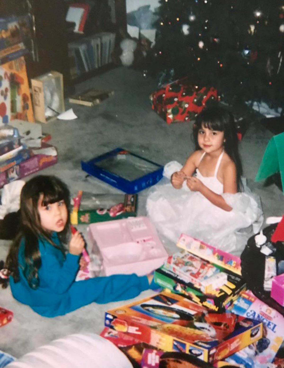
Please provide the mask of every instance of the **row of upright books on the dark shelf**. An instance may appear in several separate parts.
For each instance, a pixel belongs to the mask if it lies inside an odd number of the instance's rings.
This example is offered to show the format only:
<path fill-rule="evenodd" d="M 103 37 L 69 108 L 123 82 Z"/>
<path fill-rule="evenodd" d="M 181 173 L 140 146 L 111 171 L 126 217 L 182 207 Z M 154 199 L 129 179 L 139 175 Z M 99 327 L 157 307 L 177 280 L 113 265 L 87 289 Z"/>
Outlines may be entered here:
<path fill-rule="evenodd" d="M 107 65 L 114 50 L 115 33 L 101 32 L 68 44 L 71 78 Z"/>

